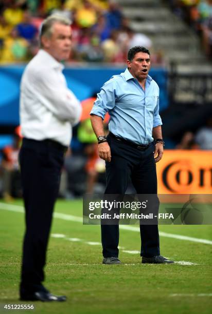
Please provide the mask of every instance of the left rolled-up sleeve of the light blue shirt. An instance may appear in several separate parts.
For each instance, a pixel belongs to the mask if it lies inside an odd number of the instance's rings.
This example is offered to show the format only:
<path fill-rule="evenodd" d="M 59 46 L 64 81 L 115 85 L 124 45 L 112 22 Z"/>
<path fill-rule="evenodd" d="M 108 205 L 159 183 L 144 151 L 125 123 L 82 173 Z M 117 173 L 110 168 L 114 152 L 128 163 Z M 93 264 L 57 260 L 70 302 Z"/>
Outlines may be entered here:
<path fill-rule="evenodd" d="M 94 106 L 90 114 L 100 116 L 104 120 L 105 114 L 113 109 L 115 106 L 115 82 L 109 80 L 106 82 L 100 92 L 97 94 L 97 100 L 94 102 Z"/>

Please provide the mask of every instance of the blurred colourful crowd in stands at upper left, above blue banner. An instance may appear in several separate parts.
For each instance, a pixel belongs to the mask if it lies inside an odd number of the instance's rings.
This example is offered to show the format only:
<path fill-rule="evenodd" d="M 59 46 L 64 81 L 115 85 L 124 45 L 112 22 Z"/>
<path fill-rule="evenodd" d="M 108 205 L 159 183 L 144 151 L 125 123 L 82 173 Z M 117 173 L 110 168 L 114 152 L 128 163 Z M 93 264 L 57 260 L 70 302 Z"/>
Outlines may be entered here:
<path fill-rule="evenodd" d="M 3 0 L 0 13 L 0 63 L 34 56 L 42 21 L 50 14 L 72 21 L 72 62 L 122 63 L 131 47 L 152 47 L 147 35 L 131 29 L 115 0 Z M 161 54 L 153 54 L 152 61 L 163 63 Z"/>

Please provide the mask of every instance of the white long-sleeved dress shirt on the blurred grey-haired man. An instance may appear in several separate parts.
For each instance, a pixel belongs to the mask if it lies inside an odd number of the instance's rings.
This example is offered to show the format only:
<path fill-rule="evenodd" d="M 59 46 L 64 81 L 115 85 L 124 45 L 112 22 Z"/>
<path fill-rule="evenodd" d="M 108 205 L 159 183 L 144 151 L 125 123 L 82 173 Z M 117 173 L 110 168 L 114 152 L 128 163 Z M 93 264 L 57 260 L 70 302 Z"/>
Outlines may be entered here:
<path fill-rule="evenodd" d="M 26 66 L 21 81 L 22 135 L 33 140 L 55 140 L 69 146 L 72 126 L 81 105 L 67 88 L 64 66 L 45 50 L 39 50 Z"/>

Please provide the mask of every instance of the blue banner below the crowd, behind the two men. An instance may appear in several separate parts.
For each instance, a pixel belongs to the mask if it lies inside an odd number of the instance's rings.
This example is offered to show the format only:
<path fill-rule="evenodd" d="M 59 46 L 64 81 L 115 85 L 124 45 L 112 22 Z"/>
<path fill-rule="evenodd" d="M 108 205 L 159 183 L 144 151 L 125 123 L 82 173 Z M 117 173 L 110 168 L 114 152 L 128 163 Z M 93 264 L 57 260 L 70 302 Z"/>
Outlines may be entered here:
<path fill-rule="evenodd" d="M 19 125 L 19 97 L 20 82 L 25 66 L 0 67 L 0 124 Z M 66 68 L 64 74 L 68 87 L 76 94 L 80 101 L 99 92 L 101 86 L 111 76 L 125 71 L 125 68 Z M 151 69 L 150 76 L 160 87 L 160 111 L 168 107 L 167 71 L 165 69 Z"/>

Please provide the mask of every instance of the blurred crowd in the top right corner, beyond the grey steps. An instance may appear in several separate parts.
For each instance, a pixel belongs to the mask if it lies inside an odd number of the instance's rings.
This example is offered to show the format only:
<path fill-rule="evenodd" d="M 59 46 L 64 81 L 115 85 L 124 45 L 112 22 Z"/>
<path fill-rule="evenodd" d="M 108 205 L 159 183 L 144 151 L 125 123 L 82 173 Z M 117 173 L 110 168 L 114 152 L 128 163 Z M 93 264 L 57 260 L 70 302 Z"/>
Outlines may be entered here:
<path fill-rule="evenodd" d="M 206 55 L 212 57 L 212 0 L 171 0 L 173 11 L 201 37 Z"/>

